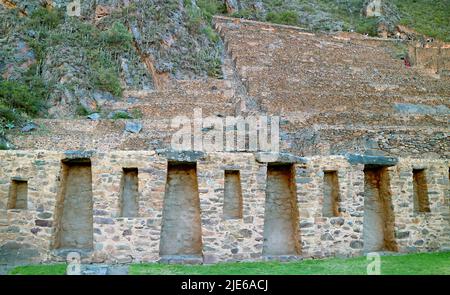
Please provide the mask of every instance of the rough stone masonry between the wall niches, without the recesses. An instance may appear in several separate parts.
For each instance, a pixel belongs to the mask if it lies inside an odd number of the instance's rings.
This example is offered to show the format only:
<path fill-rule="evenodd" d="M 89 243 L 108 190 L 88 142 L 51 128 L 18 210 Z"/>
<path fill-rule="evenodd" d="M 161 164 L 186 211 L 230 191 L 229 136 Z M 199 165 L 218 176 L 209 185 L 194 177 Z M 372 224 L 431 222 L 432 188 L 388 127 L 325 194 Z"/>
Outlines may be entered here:
<path fill-rule="evenodd" d="M 80 247 L 83 248 L 80 249 L 83 261 L 128 263 L 160 260 L 162 221 L 174 214 L 173 211 L 167 212 L 169 207 L 164 205 L 165 195 L 166 201 L 168 198 L 166 182 L 171 159 L 155 151 L 81 155 L 50 151 L 2 151 L 0 264 L 65 260 L 67 249 L 62 249 L 55 242 L 58 241 L 62 224 L 61 188 L 64 181 L 67 182 L 67 176 L 66 180 L 63 177 L 67 162 L 62 160 L 68 158 L 71 161 L 88 158 L 91 163 L 92 249 Z M 295 197 L 291 203 L 291 220 L 297 220 L 292 228 L 293 239 L 298 242 L 298 255 L 362 255 L 364 198 L 367 191 L 364 170 L 369 166 L 344 156 L 317 156 L 303 160 L 304 163 L 290 164 L 292 173 L 287 178 L 290 178 L 287 183 Z M 270 182 L 267 181 L 268 167 L 272 165 L 258 161 L 252 153 L 211 153 L 189 162 L 196 162 L 201 224 L 201 229 L 197 231 L 201 232 L 201 244 L 196 245 L 201 245 L 201 253 L 198 254 L 201 254 L 203 262 L 267 258 L 268 255 L 263 252 L 266 236 L 264 220 L 270 212 L 266 208 L 266 188 Z M 123 168 L 130 167 L 138 169 L 138 216 L 122 217 Z M 426 171 L 430 212 L 414 210 L 413 169 Z M 240 172 L 242 218 L 224 218 L 225 171 L 230 170 Z M 383 175 L 389 178 L 386 185 L 392 204 L 390 222 L 392 242 L 396 245 L 394 250 L 426 252 L 448 249 L 448 160 L 400 158 L 396 164 L 389 163 L 382 170 Z M 337 173 L 338 214 L 333 217 L 323 216 L 326 191 L 324 171 Z M 17 178 L 28 182 L 27 209 L 7 209 L 11 180 Z M 285 194 L 283 196 L 286 197 Z M 70 207 L 64 209 L 69 210 Z"/>

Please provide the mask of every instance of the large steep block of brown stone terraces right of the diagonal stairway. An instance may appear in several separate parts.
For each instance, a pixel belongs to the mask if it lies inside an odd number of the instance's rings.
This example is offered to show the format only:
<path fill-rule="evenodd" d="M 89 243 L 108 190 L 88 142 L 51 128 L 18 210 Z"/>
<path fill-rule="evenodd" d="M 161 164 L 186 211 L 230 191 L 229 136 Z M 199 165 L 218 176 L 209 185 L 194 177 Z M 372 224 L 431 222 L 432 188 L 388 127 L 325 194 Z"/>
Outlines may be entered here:
<path fill-rule="evenodd" d="M 287 150 L 448 156 L 450 79 L 407 68 L 396 54 L 408 44 L 215 20 L 246 90 L 238 105 L 282 116 Z"/>

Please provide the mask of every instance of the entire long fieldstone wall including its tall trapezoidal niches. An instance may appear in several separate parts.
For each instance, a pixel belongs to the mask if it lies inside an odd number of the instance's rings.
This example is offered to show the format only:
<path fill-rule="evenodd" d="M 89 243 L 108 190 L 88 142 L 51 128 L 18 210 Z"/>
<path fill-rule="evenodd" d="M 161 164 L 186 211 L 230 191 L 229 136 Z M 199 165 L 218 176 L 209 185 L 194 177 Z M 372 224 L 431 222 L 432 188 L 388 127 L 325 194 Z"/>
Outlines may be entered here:
<path fill-rule="evenodd" d="M 62 261 L 74 249 L 85 262 L 215 263 L 450 246 L 445 160 L 328 156 L 264 163 L 252 153 L 188 160 L 154 151 L 1 152 L 1 262 Z M 426 172 L 428 212 L 415 207 L 416 183 L 425 189 L 418 169 Z M 14 179 L 28 185 L 22 209 L 9 205 Z M 123 194 L 136 189 L 137 214 L 124 216 Z M 239 200 L 239 192 L 242 204 L 231 207 L 242 215 L 229 218 L 225 199 Z M 331 216 L 324 214 L 330 198 Z"/>

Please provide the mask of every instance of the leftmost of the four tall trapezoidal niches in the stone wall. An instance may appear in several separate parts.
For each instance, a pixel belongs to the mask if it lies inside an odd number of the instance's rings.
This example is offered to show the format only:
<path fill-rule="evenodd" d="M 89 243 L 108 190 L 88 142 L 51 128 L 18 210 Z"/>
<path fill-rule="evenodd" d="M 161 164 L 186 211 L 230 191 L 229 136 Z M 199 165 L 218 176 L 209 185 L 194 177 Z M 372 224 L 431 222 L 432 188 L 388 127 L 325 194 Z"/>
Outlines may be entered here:
<path fill-rule="evenodd" d="M 90 159 L 62 161 L 55 212 L 56 249 L 93 248 L 92 169 Z"/>

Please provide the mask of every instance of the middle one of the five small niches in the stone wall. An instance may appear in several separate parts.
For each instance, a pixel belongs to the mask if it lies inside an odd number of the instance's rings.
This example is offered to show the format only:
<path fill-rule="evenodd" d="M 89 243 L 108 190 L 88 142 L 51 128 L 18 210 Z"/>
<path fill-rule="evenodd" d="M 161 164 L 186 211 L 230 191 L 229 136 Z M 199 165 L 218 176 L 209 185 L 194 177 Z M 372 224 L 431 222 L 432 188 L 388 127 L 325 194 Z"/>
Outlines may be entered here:
<path fill-rule="evenodd" d="M 224 219 L 242 218 L 242 188 L 239 171 L 225 171 L 223 216 Z"/>

